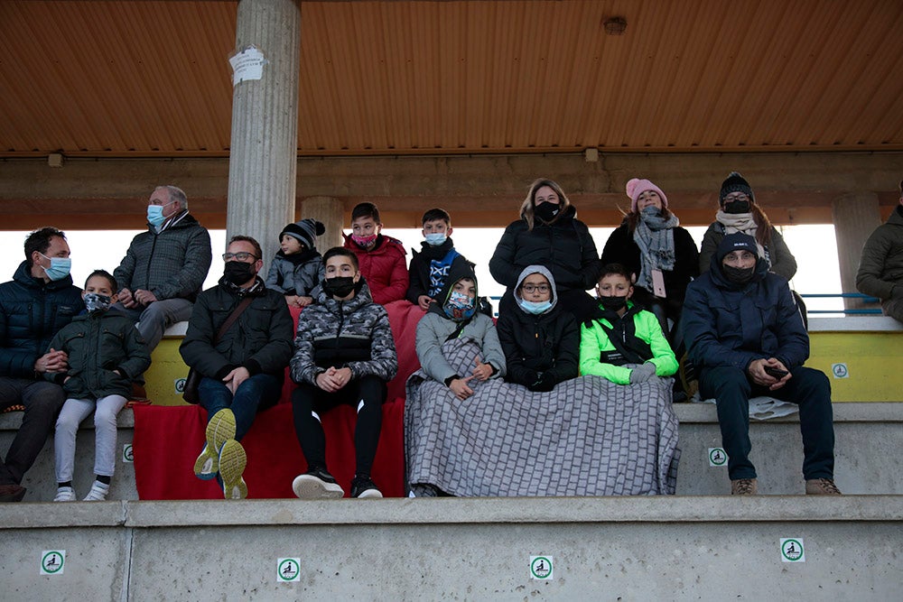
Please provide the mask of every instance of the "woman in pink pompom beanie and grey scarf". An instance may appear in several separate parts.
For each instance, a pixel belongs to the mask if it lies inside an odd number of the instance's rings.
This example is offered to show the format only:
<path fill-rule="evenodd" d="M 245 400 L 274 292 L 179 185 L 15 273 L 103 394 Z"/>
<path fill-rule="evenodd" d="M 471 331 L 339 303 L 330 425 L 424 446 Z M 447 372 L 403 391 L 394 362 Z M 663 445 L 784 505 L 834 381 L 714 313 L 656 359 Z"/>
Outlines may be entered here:
<path fill-rule="evenodd" d="M 630 212 L 605 243 L 601 263 L 622 264 L 634 274 L 633 301 L 656 314 L 676 352 L 686 285 L 699 275 L 699 252 L 656 184 L 634 178 L 627 196 Z M 670 329 L 668 319 L 674 323 Z"/>

